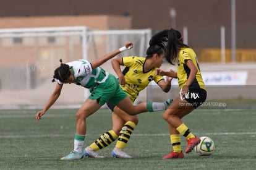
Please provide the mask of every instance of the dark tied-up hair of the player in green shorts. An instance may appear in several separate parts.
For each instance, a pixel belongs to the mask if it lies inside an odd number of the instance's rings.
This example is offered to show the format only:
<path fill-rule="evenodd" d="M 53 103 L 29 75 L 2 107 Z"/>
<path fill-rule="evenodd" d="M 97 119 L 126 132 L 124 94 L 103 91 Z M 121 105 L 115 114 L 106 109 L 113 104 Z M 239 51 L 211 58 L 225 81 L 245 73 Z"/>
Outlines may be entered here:
<path fill-rule="evenodd" d="M 51 82 L 55 82 L 55 79 L 64 82 L 70 75 L 69 65 L 63 64 L 62 59 L 59 59 L 59 62 L 61 62 L 61 66 L 54 70 L 53 80 Z"/>

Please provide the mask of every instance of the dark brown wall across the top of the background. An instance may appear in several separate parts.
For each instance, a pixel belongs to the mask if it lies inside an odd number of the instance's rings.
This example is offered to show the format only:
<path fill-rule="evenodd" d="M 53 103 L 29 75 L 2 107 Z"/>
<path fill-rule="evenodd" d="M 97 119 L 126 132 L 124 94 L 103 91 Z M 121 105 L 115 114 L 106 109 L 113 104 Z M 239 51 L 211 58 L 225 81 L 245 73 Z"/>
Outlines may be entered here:
<path fill-rule="evenodd" d="M 256 47 L 255 6 L 254 0 L 236 0 L 237 48 Z M 171 8 L 176 11 L 175 20 L 170 17 Z M 231 48 L 231 0 L 3 0 L 0 6 L 0 17 L 98 14 L 130 16 L 134 29 L 158 31 L 175 26 L 182 31 L 187 27 L 189 45 L 198 49 L 220 48 L 220 27 L 223 25 L 226 48 Z"/>

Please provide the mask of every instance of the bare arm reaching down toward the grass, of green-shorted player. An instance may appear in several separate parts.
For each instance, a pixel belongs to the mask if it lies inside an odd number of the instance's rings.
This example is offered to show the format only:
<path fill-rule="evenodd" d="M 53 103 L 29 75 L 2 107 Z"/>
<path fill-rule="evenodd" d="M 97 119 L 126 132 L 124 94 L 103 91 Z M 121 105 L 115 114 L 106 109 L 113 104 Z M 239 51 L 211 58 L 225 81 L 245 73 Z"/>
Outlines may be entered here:
<path fill-rule="evenodd" d="M 41 111 L 38 111 L 38 113 L 36 113 L 35 117 L 38 121 L 46 113 L 46 111 L 48 111 L 48 109 L 55 103 L 55 101 L 59 98 L 59 95 L 61 95 L 62 86 L 63 85 L 59 85 L 58 83 L 56 84 L 56 87 L 55 87 L 53 93 L 51 94 L 51 96 L 49 97 L 49 100 L 47 101 L 47 103 L 45 105 L 45 108 Z"/>

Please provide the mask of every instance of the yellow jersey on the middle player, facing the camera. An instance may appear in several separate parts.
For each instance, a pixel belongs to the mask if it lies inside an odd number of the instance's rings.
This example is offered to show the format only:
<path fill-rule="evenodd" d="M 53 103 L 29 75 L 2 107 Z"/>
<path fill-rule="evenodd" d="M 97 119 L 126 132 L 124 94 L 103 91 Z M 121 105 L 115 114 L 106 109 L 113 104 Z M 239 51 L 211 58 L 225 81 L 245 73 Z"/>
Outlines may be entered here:
<path fill-rule="evenodd" d="M 160 80 L 164 79 L 161 75 L 155 75 L 157 68 L 145 72 L 143 66 L 146 60 L 145 57 L 122 57 L 123 66 L 126 66 L 122 72 L 126 79 L 126 85 L 124 87 L 121 85 L 121 88 L 126 91 L 132 101 L 135 101 L 139 92 L 146 88 L 148 83 L 151 81 L 158 83 Z"/>

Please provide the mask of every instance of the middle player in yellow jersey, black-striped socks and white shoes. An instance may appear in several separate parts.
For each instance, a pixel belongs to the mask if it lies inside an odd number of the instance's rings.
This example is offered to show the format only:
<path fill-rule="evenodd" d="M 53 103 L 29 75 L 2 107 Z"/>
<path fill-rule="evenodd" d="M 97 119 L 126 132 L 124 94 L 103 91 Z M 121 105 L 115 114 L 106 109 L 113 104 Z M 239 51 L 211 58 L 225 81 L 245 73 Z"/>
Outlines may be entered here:
<path fill-rule="evenodd" d="M 155 74 L 156 69 L 163 64 L 164 57 L 164 46 L 154 43 L 155 36 L 150 41 L 146 57 L 129 56 L 112 60 L 112 66 L 118 76 L 121 88 L 127 93 L 132 102 L 135 101 L 139 92 L 146 88 L 151 81 L 155 81 L 166 93 L 171 88 L 171 77 L 167 77 L 165 81 L 162 75 Z M 120 66 L 126 67 L 121 71 Z M 153 111 L 164 110 L 171 101 L 166 100 L 167 106 L 164 103 L 153 103 L 150 106 L 153 106 Z M 107 104 L 109 109 L 113 111 L 113 129 L 101 135 L 94 143 L 85 148 L 83 153 L 90 158 L 102 158 L 103 156 L 100 156 L 96 151 L 107 147 L 118 138 L 116 147 L 114 147 L 111 155 L 116 158 L 132 158 L 132 156 L 124 152 L 124 147 L 126 147 L 130 135 L 139 122 L 138 117 L 130 116 L 117 107 L 116 104 L 110 102 L 107 102 Z"/>

